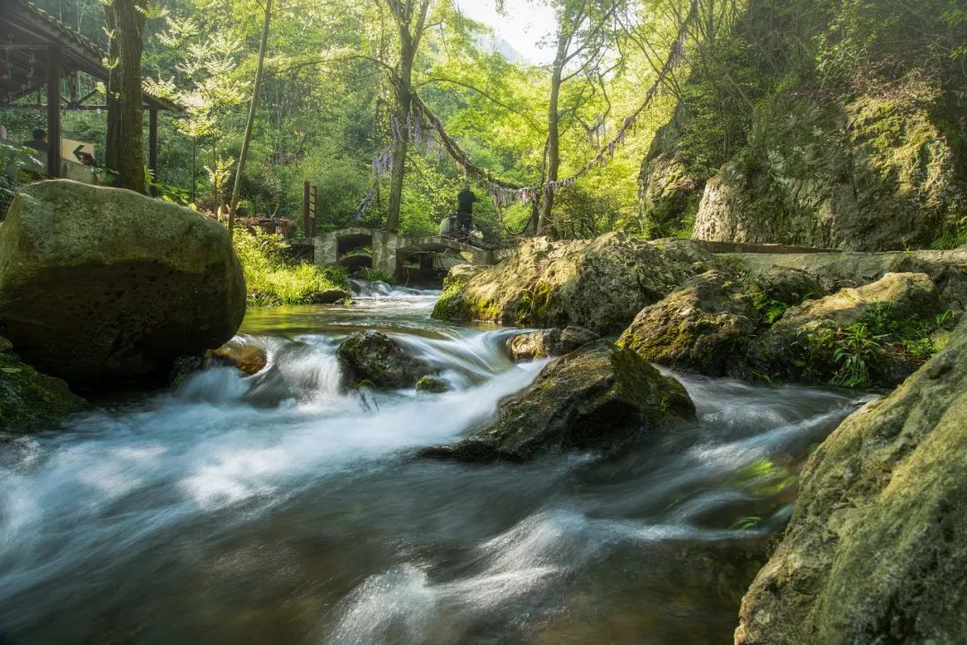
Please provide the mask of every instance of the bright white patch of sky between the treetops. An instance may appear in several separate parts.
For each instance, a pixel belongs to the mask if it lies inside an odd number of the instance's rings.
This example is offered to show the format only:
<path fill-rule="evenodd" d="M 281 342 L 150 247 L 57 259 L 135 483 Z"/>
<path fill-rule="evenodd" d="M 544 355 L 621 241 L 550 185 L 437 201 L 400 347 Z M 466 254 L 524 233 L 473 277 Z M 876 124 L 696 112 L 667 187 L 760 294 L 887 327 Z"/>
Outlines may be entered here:
<path fill-rule="evenodd" d="M 456 0 L 463 15 L 493 28 L 498 41 L 503 40 L 535 65 L 550 63 L 554 52 L 539 47 L 555 27 L 553 11 L 540 2 L 504 0 L 504 13 L 497 14 L 494 0 Z"/>

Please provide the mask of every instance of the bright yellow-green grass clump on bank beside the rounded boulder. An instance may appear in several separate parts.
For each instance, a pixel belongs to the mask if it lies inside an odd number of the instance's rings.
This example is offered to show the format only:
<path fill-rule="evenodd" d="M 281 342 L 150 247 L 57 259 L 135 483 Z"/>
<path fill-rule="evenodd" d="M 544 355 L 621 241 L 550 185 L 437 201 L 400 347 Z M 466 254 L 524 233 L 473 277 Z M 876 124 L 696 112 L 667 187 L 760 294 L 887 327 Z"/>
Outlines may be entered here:
<path fill-rule="evenodd" d="M 322 268 L 287 260 L 280 235 L 256 234 L 239 227 L 234 242 L 251 305 L 305 305 L 317 292 L 348 288 L 348 275 L 342 267 Z"/>

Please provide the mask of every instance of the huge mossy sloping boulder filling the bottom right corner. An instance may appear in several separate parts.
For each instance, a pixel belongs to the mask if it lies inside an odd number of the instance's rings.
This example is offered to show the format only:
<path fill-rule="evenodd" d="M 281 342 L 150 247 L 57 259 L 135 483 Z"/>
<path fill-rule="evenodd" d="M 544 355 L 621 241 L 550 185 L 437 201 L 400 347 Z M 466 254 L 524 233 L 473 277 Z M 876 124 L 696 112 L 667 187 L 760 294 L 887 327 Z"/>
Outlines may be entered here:
<path fill-rule="evenodd" d="M 967 642 L 967 326 L 809 458 L 739 645 Z"/>

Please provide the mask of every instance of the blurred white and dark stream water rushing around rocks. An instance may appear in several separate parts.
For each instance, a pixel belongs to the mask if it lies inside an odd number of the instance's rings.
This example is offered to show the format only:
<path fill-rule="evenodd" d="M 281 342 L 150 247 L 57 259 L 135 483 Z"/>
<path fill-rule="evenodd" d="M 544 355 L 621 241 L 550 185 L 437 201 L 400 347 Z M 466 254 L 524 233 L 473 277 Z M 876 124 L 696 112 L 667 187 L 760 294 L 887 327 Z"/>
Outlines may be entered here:
<path fill-rule="evenodd" d="M 0 443 L 2 643 L 728 643 L 841 393 L 682 376 L 700 421 L 621 457 L 414 456 L 525 387 L 512 330 L 436 294 L 249 312 L 270 356 L 70 431 Z M 445 395 L 340 394 L 340 338 L 376 328 Z"/>

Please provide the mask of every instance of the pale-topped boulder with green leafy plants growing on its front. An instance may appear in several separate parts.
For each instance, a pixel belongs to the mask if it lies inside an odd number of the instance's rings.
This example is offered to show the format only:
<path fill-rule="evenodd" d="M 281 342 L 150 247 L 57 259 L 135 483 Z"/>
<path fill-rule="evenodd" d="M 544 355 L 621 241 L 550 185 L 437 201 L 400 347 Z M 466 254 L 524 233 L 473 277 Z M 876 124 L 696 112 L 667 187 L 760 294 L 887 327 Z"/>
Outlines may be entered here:
<path fill-rule="evenodd" d="M 925 274 L 887 274 L 788 309 L 750 343 L 747 368 L 770 379 L 894 387 L 922 361 L 904 351 L 902 338 L 888 336 L 889 328 L 940 310 L 937 288 Z"/>

